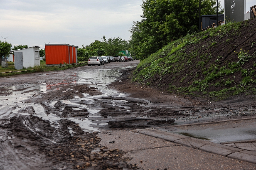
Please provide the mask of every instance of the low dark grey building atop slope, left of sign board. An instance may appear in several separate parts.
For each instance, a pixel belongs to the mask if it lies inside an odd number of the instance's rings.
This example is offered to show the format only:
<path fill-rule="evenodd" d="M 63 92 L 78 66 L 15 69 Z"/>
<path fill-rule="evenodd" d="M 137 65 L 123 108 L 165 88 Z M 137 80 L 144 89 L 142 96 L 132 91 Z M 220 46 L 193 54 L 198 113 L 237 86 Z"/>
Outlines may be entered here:
<path fill-rule="evenodd" d="M 219 14 L 218 16 L 219 16 L 219 21 L 222 21 L 222 22 L 225 21 L 224 14 Z M 202 15 L 201 16 L 201 30 L 202 29 L 206 30 L 207 27 L 211 28 L 211 25 L 213 23 L 215 23 L 217 25 L 216 19 L 217 19 L 216 15 Z"/>

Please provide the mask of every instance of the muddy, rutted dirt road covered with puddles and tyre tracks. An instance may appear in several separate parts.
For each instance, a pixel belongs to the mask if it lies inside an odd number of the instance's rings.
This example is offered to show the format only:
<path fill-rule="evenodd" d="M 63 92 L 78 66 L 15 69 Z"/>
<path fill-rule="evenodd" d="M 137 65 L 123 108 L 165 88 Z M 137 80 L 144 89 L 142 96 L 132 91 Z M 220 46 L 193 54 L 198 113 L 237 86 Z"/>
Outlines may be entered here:
<path fill-rule="evenodd" d="M 123 151 L 99 144 L 98 132 L 255 114 L 132 83 L 138 63 L 0 78 L 0 169 L 134 169 Z"/>

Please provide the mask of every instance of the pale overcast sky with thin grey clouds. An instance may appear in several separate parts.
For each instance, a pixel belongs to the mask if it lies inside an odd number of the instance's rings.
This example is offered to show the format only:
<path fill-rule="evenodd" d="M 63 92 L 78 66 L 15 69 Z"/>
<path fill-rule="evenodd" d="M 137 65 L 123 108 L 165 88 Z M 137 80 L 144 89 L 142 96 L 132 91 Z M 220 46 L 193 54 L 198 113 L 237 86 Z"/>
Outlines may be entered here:
<path fill-rule="evenodd" d="M 220 0 L 224 8 L 224 0 Z M 128 40 L 132 21 L 141 20 L 141 0 L 0 0 L 0 36 L 14 45 L 45 43 L 79 47 L 94 40 Z M 255 5 L 246 1 L 246 10 Z M 0 37 L 1 41 L 4 39 Z"/>

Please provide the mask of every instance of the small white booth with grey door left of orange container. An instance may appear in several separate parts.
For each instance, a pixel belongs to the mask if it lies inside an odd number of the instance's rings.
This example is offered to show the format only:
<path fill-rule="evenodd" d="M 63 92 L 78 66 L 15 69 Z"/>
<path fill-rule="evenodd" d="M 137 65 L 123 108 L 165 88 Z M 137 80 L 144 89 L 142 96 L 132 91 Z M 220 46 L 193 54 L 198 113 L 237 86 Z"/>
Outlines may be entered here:
<path fill-rule="evenodd" d="M 28 47 L 24 49 L 13 50 L 14 54 L 14 67 L 17 70 L 35 65 L 40 65 L 40 55 L 38 46 Z"/>

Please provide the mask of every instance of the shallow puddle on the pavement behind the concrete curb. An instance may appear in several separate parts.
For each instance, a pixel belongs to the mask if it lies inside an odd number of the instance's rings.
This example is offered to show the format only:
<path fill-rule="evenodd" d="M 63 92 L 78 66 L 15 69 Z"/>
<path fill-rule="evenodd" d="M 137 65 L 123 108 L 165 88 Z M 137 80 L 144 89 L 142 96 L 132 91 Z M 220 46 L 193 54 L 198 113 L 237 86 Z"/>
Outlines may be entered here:
<path fill-rule="evenodd" d="M 256 139 L 256 122 L 254 119 L 205 125 L 180 126 L 163 130 L 193 138 L 205 139 L 215 143 Z"/>

